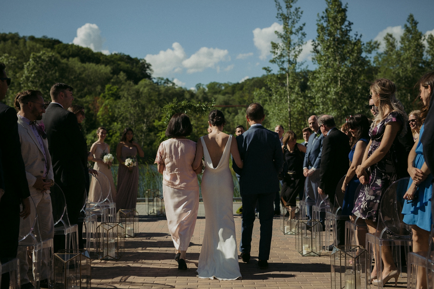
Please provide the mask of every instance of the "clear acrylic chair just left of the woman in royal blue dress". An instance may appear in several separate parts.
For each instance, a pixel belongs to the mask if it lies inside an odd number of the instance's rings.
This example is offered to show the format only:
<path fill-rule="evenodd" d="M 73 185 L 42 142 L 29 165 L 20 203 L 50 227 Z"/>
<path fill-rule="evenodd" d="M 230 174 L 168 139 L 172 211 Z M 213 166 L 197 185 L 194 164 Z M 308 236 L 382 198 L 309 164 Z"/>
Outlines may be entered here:
<path fill-rule="evenodd" d="M 325 242 L 324 248 L 327 251 L 328 247 L 332 244 L 337 246 L 337 224 L 338 221 L 349 220 L 349 216 L 342 215 L 342 206 L 344 204 L 345 194 L 342 192 L 342 184 L 345 181 L 345 175 L 340 179 L 338 185 L 336 186 L 335 202 L 331 211 L 325 212 Z M 333 237 L 333 242 L 330 242 L 330 237 Z M 332 244 L 331 244 L 332 243 Z"/>

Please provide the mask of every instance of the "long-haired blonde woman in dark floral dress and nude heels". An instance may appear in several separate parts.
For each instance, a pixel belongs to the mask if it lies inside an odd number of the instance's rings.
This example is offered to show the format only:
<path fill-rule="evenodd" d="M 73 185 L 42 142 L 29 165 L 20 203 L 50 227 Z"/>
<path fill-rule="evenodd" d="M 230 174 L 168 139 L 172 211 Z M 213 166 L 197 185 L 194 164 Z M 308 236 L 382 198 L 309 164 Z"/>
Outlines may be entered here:
<path fill-rule="evenodd" d="M 385 78 L 375 80 L 370 87 L 372 100 L 378 108 L 378 114 L 369 130 L 371 138 L 363 156 L 362 164 L 357 167 L 356 174 L 364 185 L 358 193 L 352 211 L 355 216 L 365 219 L 369 233 L 377 232 L 378 206 L 382 192 L 397 180 L 395 143 L 400 133 L 406 133 L 407 115 L 402 104 L 396 100 L 395 84 Z M 381 247 L 383 272 L 377 278 L 377 270 L 372 270 L 371 280 L 374 285 L 385 284 L 389 279 L 398 279 L 399 270 L 393 262 L 388 246 Z"/>

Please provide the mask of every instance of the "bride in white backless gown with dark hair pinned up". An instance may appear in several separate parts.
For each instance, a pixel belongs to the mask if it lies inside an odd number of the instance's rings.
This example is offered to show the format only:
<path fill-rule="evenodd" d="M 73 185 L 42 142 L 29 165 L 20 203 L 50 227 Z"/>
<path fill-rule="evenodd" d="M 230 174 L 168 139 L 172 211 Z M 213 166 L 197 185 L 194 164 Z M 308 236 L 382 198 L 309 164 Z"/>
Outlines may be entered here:
<path fill-rule="evenodd" d="M 213 110 L 209 115 L 212 132 L 197 141 L 193 169 L 205 157 L 205 171 L 201 191 L 205 207 L 205 234 L 197 266 L 197 277 L 204 279 L 235 280 L 240 278 L 237 238 L 233 221 L 233 179 L 229 169 L 232 154 L 237 166 L 243 161 L 237 140 L 223 133 L 224 115 Z"/>

